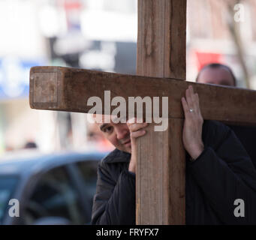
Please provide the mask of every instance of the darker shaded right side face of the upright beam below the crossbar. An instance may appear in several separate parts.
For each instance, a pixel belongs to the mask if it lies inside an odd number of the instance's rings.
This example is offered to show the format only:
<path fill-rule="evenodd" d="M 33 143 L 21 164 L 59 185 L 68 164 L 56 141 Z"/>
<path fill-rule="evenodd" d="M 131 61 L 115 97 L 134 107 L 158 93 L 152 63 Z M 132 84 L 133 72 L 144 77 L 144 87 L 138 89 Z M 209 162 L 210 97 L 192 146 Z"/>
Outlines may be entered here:
<path fill-rule="evenodd" d="M 164 161 L 165 212 L 167 224 L 185 224 L 185 149 L 182 142 L 183 119 L 170 118 L 167 151 Z M 166 144 L 166 143 L 165 143 Z"/>

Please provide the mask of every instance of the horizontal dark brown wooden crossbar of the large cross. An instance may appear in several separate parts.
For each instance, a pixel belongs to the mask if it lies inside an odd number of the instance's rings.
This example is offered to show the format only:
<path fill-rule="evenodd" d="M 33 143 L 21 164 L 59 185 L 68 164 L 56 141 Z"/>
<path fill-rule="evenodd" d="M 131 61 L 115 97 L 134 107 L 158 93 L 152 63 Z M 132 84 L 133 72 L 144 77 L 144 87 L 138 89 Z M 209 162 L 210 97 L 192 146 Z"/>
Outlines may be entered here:
<path fill-rule="evenodd" d="M 200 96 L 203 118 L 236 124 L 256 123 L 256 91 L 253 90 L 77 68 L 32 68 L 29 100 L 35 109 L 88 113 L 92 108 L 86 105 L 88 98 L 98 96 L 104 100 L 104 91 L 110 90 L 111 100 L 122 96 L 127 103 L 128 97 L 168 97 L 169 118 L 184 118 L 180 100 L 189 85 Z"/>

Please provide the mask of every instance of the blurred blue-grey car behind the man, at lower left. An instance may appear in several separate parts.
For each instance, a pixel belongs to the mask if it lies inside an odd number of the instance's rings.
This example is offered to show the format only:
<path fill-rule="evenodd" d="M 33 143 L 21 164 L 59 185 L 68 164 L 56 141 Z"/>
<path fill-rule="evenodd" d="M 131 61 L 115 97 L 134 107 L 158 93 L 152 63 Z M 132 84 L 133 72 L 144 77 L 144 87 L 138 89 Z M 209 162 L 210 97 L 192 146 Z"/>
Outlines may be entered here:
<path fill-rule="evenodd" d="M 97 166 L 107 153 L 20 154 L 0 158 L 1 224 L 89 224 Z M 19 217 L 11 217 L 18 199 Z"/>

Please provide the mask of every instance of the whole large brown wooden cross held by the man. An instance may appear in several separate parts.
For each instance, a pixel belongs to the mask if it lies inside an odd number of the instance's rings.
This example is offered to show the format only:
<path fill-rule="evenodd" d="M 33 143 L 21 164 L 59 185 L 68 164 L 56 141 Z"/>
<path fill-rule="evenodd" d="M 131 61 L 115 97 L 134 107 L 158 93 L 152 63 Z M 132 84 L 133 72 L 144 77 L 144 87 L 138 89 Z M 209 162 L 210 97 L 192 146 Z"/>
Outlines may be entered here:
<path fill-rule="evenodd" d="M 189 85 L 200 96 L 204 119 L 256 124 L 256 92 L 185 80 L 186 0 L 139 0 L 137 76 L 75 68 L 35 67 L 30 74 L 30 106 L 88 113 L 87 100 L 104 91 L 111 99 L 168 97 L 169 126 L 149 126 L 137 141 L 137 224 L 185 223 L 185 150 L 181 98 Z M 177 80 L 179 79 L 179 80 Z"/>

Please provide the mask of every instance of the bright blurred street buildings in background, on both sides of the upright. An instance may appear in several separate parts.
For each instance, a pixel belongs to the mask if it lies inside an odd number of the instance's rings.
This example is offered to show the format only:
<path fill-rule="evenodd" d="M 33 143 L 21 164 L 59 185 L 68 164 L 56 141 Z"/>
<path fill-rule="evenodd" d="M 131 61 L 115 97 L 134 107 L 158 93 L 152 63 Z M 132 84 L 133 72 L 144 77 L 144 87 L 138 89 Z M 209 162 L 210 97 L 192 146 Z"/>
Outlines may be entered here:
<path fill-rule="evenodd" d="M 239 86 L 248 79 L 256 89 L 255 13 L 254 0 L 188 0 L 187 80 L 222 62 Z M 0 152 L 26 142 L 43 151 L 110 148 L 86 114 L 31 110 L 29 68 L 135 74 L 137 0 L 2 0 L 0 18 Z"/>

